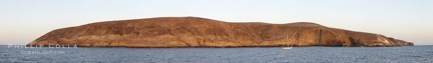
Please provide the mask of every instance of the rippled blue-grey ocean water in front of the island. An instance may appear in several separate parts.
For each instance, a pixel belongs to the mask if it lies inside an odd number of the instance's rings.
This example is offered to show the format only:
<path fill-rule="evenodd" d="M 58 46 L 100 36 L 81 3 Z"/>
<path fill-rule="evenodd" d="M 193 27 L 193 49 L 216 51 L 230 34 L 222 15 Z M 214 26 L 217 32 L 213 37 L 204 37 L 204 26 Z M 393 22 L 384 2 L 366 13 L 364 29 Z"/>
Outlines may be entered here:
<path fill-rule="evenodd" d="M 24 51 L 34 51 L 33 53 Z M 39 51 L 39 53 L 35 53 Z M 64 51 L 43 53 L 43 51 Z M 433 63 L 433 46 L 238 48 L 8 48 L 0 63 Z"/>

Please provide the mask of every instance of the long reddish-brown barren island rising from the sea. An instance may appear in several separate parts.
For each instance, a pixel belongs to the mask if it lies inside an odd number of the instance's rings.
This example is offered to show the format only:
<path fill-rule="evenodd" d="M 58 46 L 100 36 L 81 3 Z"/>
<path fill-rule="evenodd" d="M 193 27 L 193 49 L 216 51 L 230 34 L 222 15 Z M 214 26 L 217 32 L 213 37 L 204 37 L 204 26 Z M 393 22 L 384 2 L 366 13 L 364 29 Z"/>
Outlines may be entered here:
<path fill-rule="evenodd" d="M 284 40 L 284 42 L 283 42 Z M 287 42 L 288 40 L 288 42 Z M 328 28 L 309 22 L 222 22 L 198 17 L 161 17 L 96 22 L 48 32 L 29 43 L 78 47 L 279 47 L 405 46 L 383 35 Z M 28 45 L 28 46 L 29 46 Z"/>

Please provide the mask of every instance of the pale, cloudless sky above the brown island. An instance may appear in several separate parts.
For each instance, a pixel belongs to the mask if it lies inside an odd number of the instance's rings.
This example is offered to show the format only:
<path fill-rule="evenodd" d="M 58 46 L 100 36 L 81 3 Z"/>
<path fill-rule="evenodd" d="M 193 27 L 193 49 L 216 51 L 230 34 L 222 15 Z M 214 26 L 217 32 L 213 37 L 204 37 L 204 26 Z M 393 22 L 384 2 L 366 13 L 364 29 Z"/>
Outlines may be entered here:
<path fill-rule="evenodd" d="M 0 0 L 0 45 L 93 22 L 194 16 L 224 22 L 313 22 L 433 45 L 433 0 Z"/>

